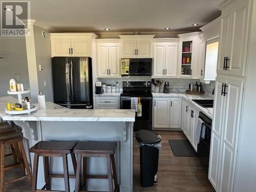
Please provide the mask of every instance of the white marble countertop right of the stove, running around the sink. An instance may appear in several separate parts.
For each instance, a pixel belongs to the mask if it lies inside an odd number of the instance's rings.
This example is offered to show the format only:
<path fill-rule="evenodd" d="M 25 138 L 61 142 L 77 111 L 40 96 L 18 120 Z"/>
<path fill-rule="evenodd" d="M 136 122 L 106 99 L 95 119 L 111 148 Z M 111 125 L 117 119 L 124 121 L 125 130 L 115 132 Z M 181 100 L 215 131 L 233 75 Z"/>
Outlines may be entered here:
<path fill-rule="evenodd" d="M 202 106 L 194 102 L 192 99 L 214 99 L 213 97 L 205 95 L 188 95 L 185 93 L 152 93 L 152 95 L 153 97 L 182 97 L 185 101 L 194 106 L 194 108 L 196 108 L 198 111 L 203 112 L 206 116 L 212 119 L 214 109 L 203 108 Z"/>

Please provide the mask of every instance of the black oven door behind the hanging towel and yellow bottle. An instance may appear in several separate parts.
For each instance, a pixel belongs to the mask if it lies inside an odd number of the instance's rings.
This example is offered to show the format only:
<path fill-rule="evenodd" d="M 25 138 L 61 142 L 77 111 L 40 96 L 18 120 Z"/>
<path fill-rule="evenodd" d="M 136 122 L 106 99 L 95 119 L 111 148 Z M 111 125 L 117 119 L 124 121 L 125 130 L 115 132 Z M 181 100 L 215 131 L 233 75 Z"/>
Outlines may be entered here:
<path fill-rule="evenodd" d="M 152 97 L 141 97 L 142 116 L 135 117 L 134 131 L 152 130 Z M 131 109 L 131 97 L 120 97 L 120 109 Z"/>

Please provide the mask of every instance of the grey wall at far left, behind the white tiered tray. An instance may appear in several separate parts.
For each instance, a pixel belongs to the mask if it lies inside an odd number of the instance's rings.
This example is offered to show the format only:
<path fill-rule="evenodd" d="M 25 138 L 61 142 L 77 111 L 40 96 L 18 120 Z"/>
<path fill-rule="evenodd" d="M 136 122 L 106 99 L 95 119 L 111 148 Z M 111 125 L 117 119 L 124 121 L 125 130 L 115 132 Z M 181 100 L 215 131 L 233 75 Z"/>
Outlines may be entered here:
<path fill-rule="evenodd" d="M 7 96 L 9 81 L 22 74 L 21 83 L 30 88 L 25 38 L 0 38 L 0 97 Z"/>

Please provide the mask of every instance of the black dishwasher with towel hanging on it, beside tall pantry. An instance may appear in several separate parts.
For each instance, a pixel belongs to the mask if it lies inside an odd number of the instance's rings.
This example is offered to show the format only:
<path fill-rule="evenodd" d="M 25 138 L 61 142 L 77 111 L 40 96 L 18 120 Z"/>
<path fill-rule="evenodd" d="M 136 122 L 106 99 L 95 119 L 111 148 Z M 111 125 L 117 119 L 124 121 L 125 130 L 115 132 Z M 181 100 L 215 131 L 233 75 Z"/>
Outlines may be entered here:
<path fill-rule="evenodd" d="M 202 164 L 205 166 L 208 173 L 210 157 L 211 119 L 204 115 L 202 112 L 199 112 L 199 118 L 203 121 L 201 133 L 204 125 L 205 134 L 204 137 L 202 137 L 202 134 L 200 135 L 200 141 L 197 145 L 197 154 L 200 157 L 200 160 Z"/>

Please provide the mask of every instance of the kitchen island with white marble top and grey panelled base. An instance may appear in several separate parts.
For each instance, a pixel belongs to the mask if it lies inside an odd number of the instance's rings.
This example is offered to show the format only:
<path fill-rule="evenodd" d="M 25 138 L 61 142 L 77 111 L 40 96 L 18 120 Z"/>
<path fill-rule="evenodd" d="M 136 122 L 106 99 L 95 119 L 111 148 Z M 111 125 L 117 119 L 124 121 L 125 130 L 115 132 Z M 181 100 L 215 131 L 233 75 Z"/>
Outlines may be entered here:
<path fill-rule="evenodd" d="M 52 102 L 47 102 L 46 109 L 39 109 L 27 115 L 7 115 L 5 108 L 8 102 L 17 99 L 0 97 L 0 117 L 12 121 L 20 127 L 24 136 L 24 144 L 28 161 L 33 166 L 33 154 L 28 150 L 38 141 L 117 141 L 115 154 L 118 183 L 120 191 L 133 190 L 133 122 L 135 110 L 71 110 Z M 88 174 L 107 173 L 104 158 L 90 158 L 87 162 Z M 39 159 L 38 188 L 44 186 L 42 158 Z M 62 174 L 62 160 L 54 157 L 50 160 L 50 172 Z M 74 174 L 71 157 L 69 172 Z M 65 190 L 63 179 L 51 179 L 52 190 Z M 70 179 L 71 191 L 74 179 Z M 88 180 L 88 190 L 108 190 L 108 180 Z"/>

